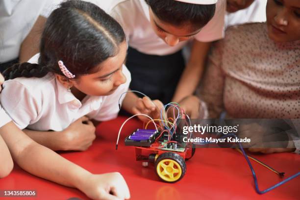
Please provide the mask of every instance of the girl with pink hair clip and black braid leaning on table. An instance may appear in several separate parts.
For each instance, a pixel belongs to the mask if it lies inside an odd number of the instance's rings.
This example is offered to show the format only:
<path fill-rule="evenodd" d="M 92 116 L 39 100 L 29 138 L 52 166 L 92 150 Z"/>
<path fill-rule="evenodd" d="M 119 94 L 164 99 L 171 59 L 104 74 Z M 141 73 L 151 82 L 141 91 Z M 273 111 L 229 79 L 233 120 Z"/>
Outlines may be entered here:
<path fill-rule="evenodd" d="M 122 27 L 98 6 L 63 2 L 46 22 L 40 55 L 4 72 L 10 80 L 3 84 L 2 106 L 36 142 L 52 150 L 85 150 L 95 139 L 91 120 L 115 118 L 128 90 L 126 49 Z M 126 103 L 152 115 L 162 106 L 147 98 Z"/>

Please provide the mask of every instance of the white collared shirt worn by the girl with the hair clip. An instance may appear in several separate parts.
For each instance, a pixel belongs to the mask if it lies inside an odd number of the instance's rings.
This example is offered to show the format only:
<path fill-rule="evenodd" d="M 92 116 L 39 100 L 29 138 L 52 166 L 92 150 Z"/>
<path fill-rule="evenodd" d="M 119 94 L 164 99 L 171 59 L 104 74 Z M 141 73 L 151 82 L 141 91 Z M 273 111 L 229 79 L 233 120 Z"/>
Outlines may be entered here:
<path fill-rule="evenodd" d="M 28 62 L 37 63 L 38 57 L 36 54 Z M 61 131 L 82 116 L 107 121 L 117 117 L 119 98 L 128 90 L 131 76 L 125 65 L 123 73 L 127 81 L 113 94 L 86 96 L 81 102 L 52 73 L 42 78 L 20 77 L 5 81 L 0 100 L 20 129 Z"/>

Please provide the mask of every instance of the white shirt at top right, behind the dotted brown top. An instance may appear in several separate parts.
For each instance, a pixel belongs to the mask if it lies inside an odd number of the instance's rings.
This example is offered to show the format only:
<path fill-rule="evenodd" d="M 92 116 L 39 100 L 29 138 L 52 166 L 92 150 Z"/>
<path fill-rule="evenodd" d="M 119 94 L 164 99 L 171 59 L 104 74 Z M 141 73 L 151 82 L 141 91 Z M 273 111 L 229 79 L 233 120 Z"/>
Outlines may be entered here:
<path fill-rule="evenodd" d="M 234 13 L 227 13 L 225 16 L 225 28 L 231 25 L 266 22 L 266 6 L 267 0 L 254 0 L 246 9 Z"/>

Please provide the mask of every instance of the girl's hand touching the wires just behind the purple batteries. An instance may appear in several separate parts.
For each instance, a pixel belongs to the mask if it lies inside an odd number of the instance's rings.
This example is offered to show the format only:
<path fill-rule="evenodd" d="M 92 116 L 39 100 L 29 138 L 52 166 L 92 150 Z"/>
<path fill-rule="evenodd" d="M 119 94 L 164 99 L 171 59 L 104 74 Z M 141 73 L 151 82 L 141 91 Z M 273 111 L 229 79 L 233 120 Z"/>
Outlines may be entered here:
<path fill-rule="evenodd" d="M 139 98 L 135 106 L 132 108 L 133 114 L 145 114 L 149 115 L 152 119 L 159 119 L 160 118 L 160 110 L 164 107 L 164 104 L 160 100 L 150 100 L 148 97 L 143 97 L 143 99 Z M 147 122 L 150 119 L 138 115 L 137 116 L 140 120 Z"/>

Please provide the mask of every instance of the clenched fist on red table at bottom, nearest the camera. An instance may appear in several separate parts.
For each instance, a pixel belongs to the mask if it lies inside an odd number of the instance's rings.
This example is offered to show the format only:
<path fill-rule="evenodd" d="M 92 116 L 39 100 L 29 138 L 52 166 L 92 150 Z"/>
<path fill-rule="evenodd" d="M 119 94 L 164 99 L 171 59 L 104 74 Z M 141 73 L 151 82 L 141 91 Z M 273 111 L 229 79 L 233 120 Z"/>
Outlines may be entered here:
<path fill-rule="evenodd" d="M 89 175 L 78 184 L 78 189 L 93 200 L 127 200 L 130 193 L 120 173 Z"/>

